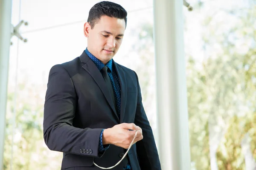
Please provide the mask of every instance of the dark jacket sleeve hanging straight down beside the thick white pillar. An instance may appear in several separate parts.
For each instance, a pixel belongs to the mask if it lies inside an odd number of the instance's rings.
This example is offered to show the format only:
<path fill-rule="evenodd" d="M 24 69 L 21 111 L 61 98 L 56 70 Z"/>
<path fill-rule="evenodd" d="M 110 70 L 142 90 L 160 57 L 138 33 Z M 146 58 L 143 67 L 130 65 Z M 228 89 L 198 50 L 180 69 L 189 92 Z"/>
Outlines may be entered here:
<path fill-rule="evenodd" d="M 139 126 L 143 132 L 143 139 L 136 143 L 140 168 L 141 170 L 161 170 L 153 131 L 143 108 L 140 84 L 137 74 L 136 78 L 138 84 L 138 98 L 134 124 Z"/>

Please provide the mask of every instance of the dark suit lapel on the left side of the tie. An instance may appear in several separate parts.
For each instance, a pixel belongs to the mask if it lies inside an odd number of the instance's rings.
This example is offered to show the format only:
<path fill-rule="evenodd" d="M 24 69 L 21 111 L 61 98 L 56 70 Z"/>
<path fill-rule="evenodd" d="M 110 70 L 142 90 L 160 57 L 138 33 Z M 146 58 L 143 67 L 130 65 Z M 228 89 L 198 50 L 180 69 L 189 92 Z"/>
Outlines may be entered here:
<path fill-rule="evenodd" d="M 90 57 L 87 56 L 85 52 L 81 54 L 80 60 L 81 62 L 85 63 L 82 67 L 93 77 L 95 82 L 98 84 L 99 88 L 101 89 L 102 93 L 107 99 L 109 105 L 111 106 L 113 112 L 115 113 L 117 119 L 119 120 L 118 115 L 116 113 L 115 106 L 111 99 L 110 92 L 108 90 L 108 87 L 105 85 L 104 78 L 102 77 L 102 74 L 99 72 L 99 69 L 96 67 L 96 65 L 93 63 Z"/>

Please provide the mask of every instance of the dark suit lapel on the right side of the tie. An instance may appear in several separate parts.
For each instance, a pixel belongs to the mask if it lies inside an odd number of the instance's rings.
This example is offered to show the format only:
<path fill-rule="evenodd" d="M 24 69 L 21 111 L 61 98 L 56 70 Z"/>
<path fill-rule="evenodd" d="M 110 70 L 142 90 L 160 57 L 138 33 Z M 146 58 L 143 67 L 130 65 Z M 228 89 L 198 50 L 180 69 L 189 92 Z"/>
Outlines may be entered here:
<path fill-rule="evenodd" d="M 127 83 L 126 83 L 125 73 L 123 69 L 114 61 L 113 61 L 113 65 L 116 68 L 116 73 L 119 78 L 119 83 L 121 86 L 120 122 L 122 123 L 124 122 L 124 117 L 125 117 L 125 107 L 126 107 L 126 101 L 127 101 Z"/>

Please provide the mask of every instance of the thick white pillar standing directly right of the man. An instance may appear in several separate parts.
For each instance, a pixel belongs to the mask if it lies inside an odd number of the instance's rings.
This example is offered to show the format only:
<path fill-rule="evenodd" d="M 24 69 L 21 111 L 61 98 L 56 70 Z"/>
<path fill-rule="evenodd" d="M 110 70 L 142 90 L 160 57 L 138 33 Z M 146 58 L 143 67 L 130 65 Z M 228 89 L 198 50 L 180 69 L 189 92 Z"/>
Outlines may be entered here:
<path fill-rule="evenodd" d="M 163 170 L 190 170 L 183 1 L 154 0 L 159 155 Z"/>

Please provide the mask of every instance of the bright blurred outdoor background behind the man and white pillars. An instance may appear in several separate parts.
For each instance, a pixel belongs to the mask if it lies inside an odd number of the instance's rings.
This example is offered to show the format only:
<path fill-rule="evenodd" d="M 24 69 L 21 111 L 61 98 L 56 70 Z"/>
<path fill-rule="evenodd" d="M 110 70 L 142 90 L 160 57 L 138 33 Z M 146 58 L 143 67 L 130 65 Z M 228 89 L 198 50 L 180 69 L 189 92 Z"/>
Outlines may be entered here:
<path fill-rule="evenodd" d="M 159 143 L 153 0 L 112 0 L 128 11 L 114 60 L 137 72 Z M 57 170 L 62 153 L 43 139 L 49 69 L 87 47 L 83 24 L 99 0 L 12 0 L 27 42 L 12 37 L 3 170 Z M 189 0 L 184 51 L 191 170 L 256 170 L 256 0 Z"/>

